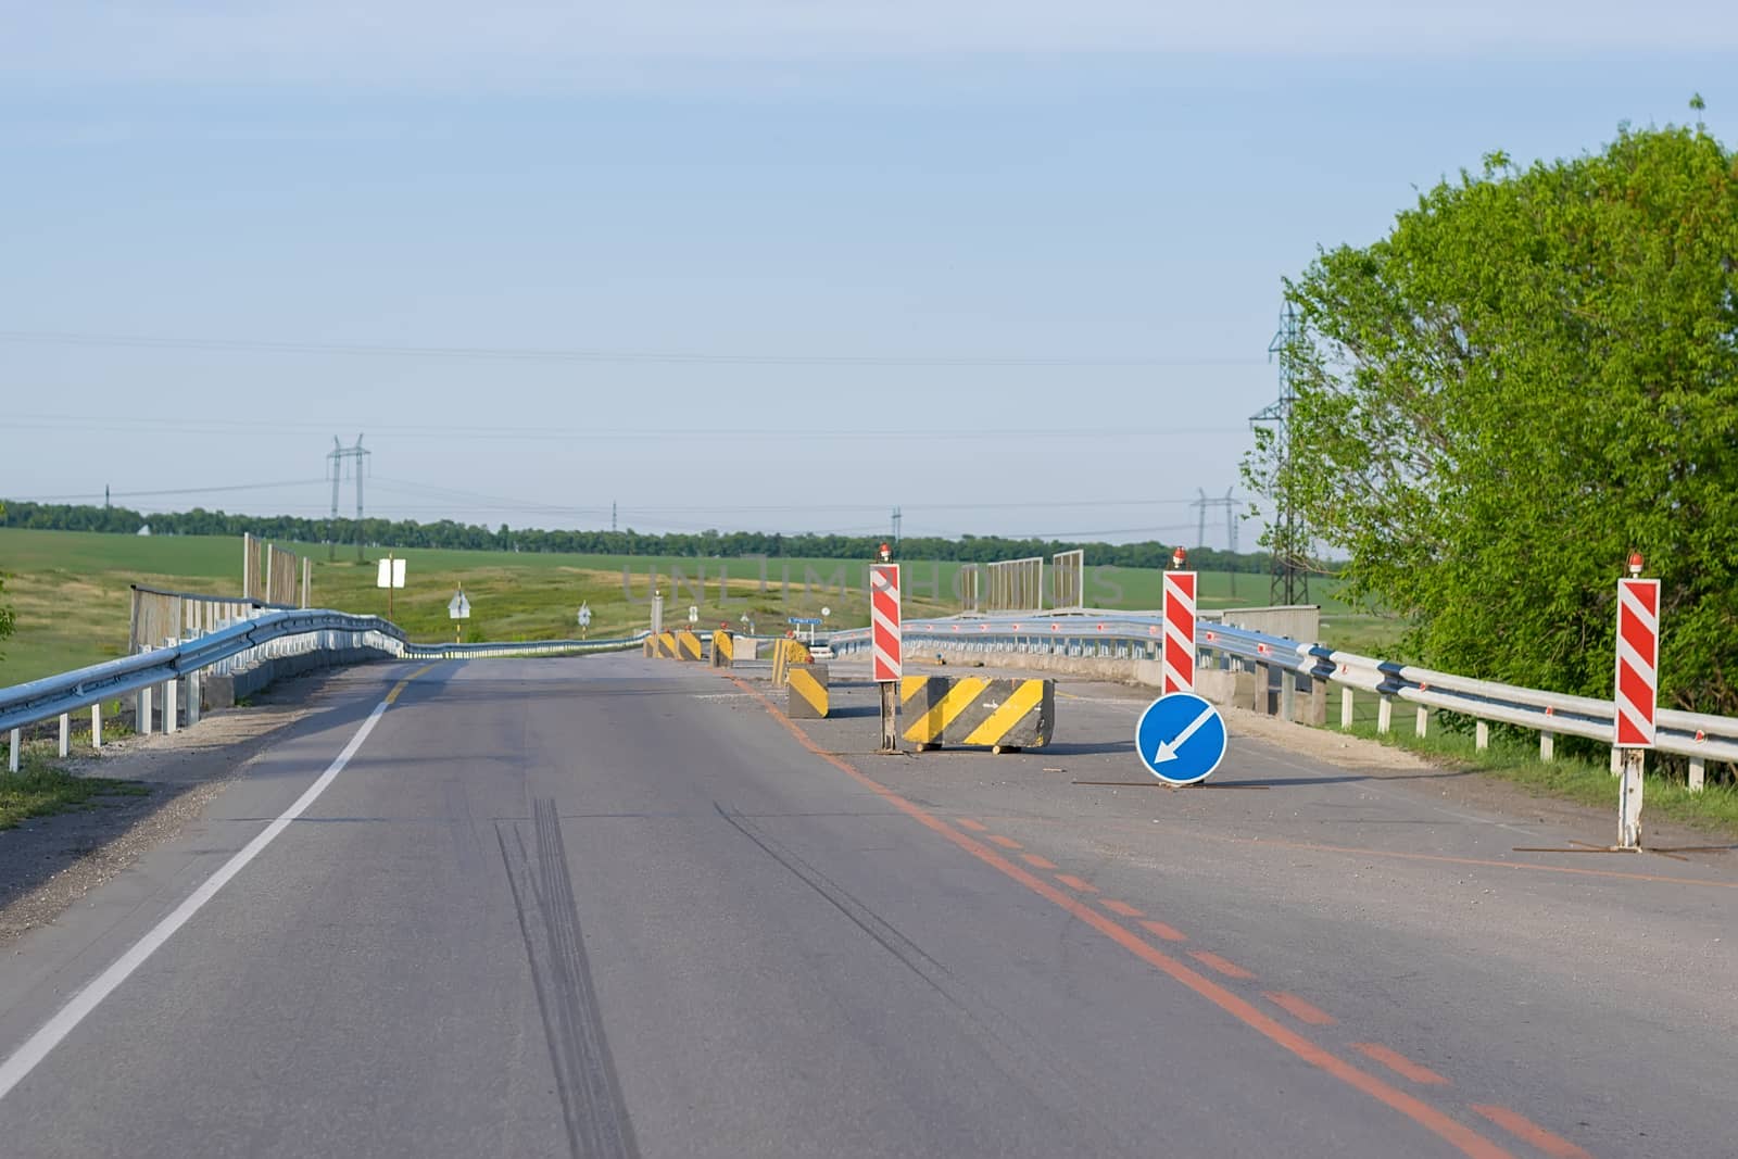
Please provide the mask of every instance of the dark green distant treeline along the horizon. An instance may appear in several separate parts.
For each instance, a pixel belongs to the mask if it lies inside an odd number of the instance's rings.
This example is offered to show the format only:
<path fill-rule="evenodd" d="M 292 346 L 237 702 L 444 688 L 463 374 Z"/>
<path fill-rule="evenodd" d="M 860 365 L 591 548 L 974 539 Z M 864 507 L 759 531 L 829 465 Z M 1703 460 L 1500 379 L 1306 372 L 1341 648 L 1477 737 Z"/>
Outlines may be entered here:
<path fill-rule="evenodd" d="M 301 520 L 292 516 L 226 514 L 222 511 L 153 513 L 149 516 L 127 507 L 85 507 L 64 504 L 10 502 L 0 525 L 28 527 L 49 532 L 113 532 L 134 535 L 149 525 L 153 535 L 242 535 L 250 532 L 280 544 L 322 544 L 334 539 L 341 544 L 356 542 L 355 520 Z M 563 532 L 539 528 L 495 530 L 474 523 L 415 523 L 412 520 L 363 520 L 362 539 L 374 547 L 443 547 L 457 551 L 549 551 L 603 556 L 674 556 L 674 558 L 812 558 L 812 560 L 872 560 L 885 537 L 878 535 L 780 535 L 775 532 L 667 532 L 645 535 L 641 532 Z M 1088 566 L 1118 565 L 1126 568 L 1170 566 L 1175 544 L 1069 544 L 1041 539 L 1003 539 L 999 535 L 966 535 L 963 539 L 907 537 L 899 544 L 904 560 L 958 560 L 961 563 L 992 563 L 1022 556 L 1051 556 L 1058 551 L 1081 547 Z M 1204 572 L 1267 572 L 1265 553 L 1217 551 L 1191 547 L 1189 565 Z"/>

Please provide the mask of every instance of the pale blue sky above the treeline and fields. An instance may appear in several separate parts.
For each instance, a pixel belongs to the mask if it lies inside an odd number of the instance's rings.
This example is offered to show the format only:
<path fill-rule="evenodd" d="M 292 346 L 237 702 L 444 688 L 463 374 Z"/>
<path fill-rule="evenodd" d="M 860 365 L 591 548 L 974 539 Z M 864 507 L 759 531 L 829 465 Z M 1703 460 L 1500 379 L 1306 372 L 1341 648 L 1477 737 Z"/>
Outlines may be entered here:
<path fill-rule="evenodd" d="M 1192 540 L 1317 245 L 1738 136 L 1726 5 L 1062 9 L 0 3 L 0 495 Z"/>

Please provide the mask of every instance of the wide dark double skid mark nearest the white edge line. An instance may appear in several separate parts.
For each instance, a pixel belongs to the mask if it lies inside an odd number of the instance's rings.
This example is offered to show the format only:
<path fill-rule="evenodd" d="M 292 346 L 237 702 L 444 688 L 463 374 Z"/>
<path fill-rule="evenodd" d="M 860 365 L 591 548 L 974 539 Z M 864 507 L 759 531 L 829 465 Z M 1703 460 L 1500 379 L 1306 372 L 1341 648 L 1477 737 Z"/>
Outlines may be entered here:
<path fill-rule="evenodd" d="M 532 824 L 535 853 L 525 848 L 518 824 L 497 824 L 495 838 L 549 1041 L 568 1152 L 574 1159 L 634 1159 L 640 1147 L 603 1034 L 603 1011 L 579 933 L 572 869 L 553 799 L 532 803 Z"/>

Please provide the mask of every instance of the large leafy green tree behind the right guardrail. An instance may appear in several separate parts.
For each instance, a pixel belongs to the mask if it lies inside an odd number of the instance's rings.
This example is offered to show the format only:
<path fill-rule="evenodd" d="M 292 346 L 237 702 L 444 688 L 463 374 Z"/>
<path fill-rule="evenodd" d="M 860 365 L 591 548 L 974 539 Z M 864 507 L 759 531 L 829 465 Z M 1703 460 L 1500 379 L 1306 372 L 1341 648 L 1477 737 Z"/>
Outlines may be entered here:
<path fill-rule="evenodd" d="M 1662 700 L 1738 711 L 1738 165 L 1695 129 L 1502 153 L 1288 299 L 1291 455 L 1244 462 L 1415 619 L 1425 664 L 1609 699 L 1615 580 L 1663 580 Z"/>

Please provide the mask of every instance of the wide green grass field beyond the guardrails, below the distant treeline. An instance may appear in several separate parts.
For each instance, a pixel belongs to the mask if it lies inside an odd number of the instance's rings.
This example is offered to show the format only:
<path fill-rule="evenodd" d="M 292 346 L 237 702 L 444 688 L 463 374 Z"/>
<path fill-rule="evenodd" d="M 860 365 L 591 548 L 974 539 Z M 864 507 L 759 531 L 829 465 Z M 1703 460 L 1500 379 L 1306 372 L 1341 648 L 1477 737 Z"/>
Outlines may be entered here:
<path fill-rule="evenodd" d="M 368 551 L 355 547 L 327 560 L 323 546 L 280 544 L 315 561 L 313 603 L 344 612 L 386 615 L 388 594 L 374 586 Z M 758 631 L 784 627 L 793 615 L 827 617 L 831 627 L 869 622 L 864 596 L 867 563 L 860 560 L 674 560 L 629 556 L 520 554 L 504 551 L 398 551 L 408 586 L 393 593 L 393 619 L 417 641 L 452 639 L 447 601 L 462 586 L 471 601 L 466 639 L 563 639 L 579 632 L 580 601 L 591 606 L 589 636 L 631 634 L 648 622 L 653 584 L 666 594 L 666 620 L 699 606 L 700 624 L 740 622 Z M 905 561 L 905 613 L 945 615 L 959 608 L 959 563 Z M 139 537 L 94 532 L 0 528 L 0 575 L 17 612 L 17 634 L 0 643 L 0 686 L 63 672 L 122 655 L 127 646 L 129 586 L 242 593 L 242 542 L 231 537 Z M 1326 587 L 1326 586 L 1319 586 Z M 1086 601 L 1104 608 L 1156 608 L 1161 572 L 1086 568 Z M 1317 589 L 1312 589 L 1316 594 Z M 1203 572 L 1203 608 L 1253 606 L 1267 601 L 1267 579 Z M 1356 615 L 1331 596 L 1323 599 L 1324 636 L 1337 646 L 1380 652 L 1396 626 Z"/>

